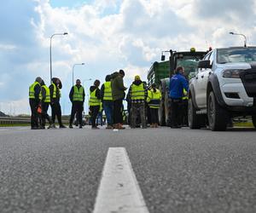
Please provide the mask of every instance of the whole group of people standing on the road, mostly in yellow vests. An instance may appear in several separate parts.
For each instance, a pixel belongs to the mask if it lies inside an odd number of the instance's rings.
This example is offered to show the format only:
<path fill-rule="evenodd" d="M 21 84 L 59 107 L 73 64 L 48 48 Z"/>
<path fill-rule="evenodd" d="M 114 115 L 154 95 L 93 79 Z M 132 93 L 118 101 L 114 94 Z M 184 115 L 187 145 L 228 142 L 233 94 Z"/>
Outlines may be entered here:
<path fill-rule="evenodd" d="M 96 118 L 102 110 L 107 117 L 106 129 L 124 130 L 123 126 L 123 101 L 125 100 L 125 90 L 123 78 L 125 72 L 113 72 L 107 75 L 105 83 L 95 80 L 90 86 L 90 124 L 92 129 L 99 129 L 96 125 Z M 49 88 L 45 85 L 44 80 L 40 77 L 29 88 L 29 103 L 31 107 L 31 128 L 32 130 L 45 129 L 45 122 L 48 120 L 49 127 L 55 128 L 55 117 L 58 119 L 59 127 L 66 128 L 61 122 L 61 80 L 52 78 Z M 176 74 L 170 79 L 170 99 L 171 99 L 171 127 L 177 128 L 181 123 L 182 109 L 180 104 L 183 103 L 184 97 L 187 97 L 189 90 L 188 81 L 183 77 L 183 67 L 177 67 Z M 79 79 L 70 90 L 69 99 L 72 102 L 71 116 L 69 119 L 69 128 L 73 129 L 73 120 L 76 116 L 79 128 L 83 128 L 82 112 L 84 111 L 84 87 Z M 133 83 L 126 95 L 126 101 L 129 112 L 129 124 L 131 129 L 142 124 L 142 128 L 147 128 L 147 119 L 150 127 L 157 128 L 159 123 L 158 109 L 160 107 L 161 92 L 153 83 L 147 88 L 145 82 L 139 76 L 135 76 Z M 49 118 L 48 108 L 52 109 L 52 116 Z M 184 112 L 186 113 L 186 112 Z"/>

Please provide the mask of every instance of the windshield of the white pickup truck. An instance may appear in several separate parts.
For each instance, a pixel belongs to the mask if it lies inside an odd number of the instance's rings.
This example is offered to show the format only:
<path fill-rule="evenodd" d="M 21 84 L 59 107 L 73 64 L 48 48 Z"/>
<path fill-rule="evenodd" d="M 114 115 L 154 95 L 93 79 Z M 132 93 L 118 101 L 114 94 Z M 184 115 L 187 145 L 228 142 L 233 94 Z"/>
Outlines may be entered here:
<path fill-rule="evenodd" d="M 218 64 L 256 61 L 256 48 L 230 48 L 217 50 Z"/>

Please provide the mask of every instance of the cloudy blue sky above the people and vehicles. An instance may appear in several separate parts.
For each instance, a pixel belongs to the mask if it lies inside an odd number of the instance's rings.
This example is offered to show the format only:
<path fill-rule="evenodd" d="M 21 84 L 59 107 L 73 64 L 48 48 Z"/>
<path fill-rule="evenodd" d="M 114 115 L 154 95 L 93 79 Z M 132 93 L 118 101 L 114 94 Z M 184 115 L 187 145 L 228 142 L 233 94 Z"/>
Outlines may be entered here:
<path fill-rule="evenodd" d="M 146 79 L 165 49 L 205 50 L 256 43 L 256 0 L 9 0 L 0 7 L 0 111 L 28 113 L 28 87 L 37 76 L 49 84 L 49 37 L 53 76 L 63 83 L 61 106 L 68 114 L 74 77 L 104 81 L 120 68 L 125 84 Z M 88 92 L 87 92 L 88 94 Z"/>

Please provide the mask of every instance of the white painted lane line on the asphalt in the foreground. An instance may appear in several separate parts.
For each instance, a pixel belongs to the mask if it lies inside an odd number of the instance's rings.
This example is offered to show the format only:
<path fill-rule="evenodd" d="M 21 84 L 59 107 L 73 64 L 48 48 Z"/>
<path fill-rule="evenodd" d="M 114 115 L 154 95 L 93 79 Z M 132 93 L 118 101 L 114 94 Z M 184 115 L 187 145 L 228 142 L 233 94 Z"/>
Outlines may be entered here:
<path fill-rule="evenodd" d="M 93 213 L 102 212 L 148 213 L 124 147 L 108 149 L 93 210 Z"/>

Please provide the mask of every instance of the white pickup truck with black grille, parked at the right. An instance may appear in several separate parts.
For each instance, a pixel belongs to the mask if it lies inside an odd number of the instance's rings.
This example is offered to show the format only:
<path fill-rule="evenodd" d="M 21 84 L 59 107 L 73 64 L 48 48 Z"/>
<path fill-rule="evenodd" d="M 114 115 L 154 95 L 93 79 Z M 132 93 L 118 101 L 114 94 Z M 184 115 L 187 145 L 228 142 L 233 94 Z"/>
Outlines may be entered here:
<path fill-rule="evenodd" d="M 226 130 L 243 115 L 256 128 L 256 47 L 213 49 L 189 82 L 189 127 Z"/>

